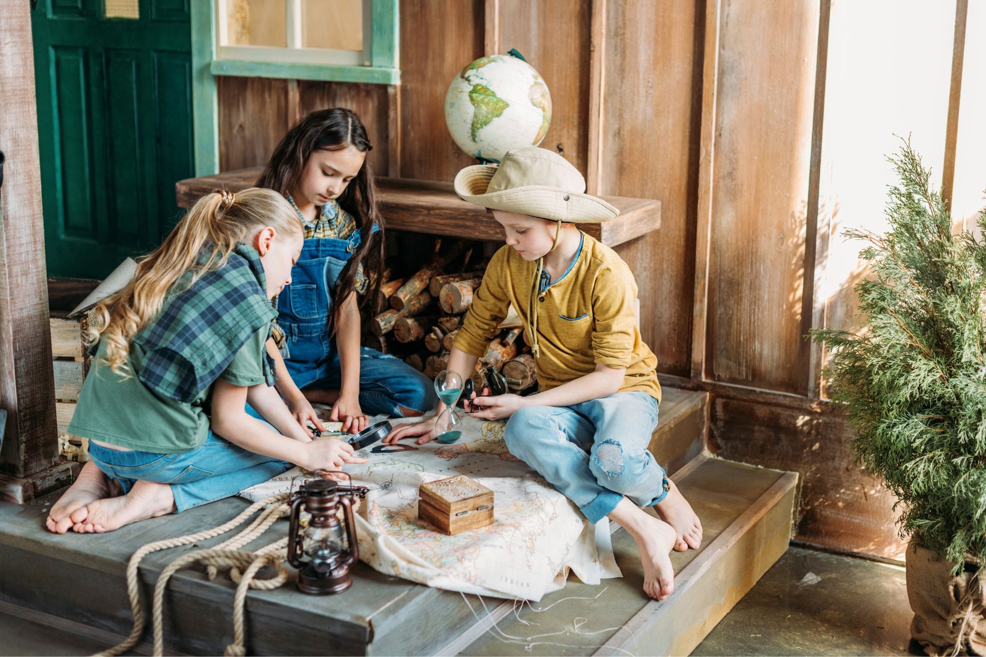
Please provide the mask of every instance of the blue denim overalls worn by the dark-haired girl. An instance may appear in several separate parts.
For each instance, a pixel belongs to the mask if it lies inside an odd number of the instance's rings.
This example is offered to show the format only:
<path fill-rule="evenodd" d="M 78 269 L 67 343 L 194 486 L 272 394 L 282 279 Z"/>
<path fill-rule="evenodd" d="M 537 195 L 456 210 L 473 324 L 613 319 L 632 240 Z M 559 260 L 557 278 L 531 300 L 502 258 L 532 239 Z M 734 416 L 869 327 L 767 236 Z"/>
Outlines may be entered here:
<path fill-rule="evenodd" d="M 291 285 L 277 300 L 277 323 L 284 329 L 284 362 L 299 388 L 339 388 L 342 370 L 328 320 L 343 268 L 362 237 L 310 237 L 291 270 Z M 405 415 L 402 409 L 427 413 L 438 397 L 432 381 L 404 361 L 360 348 L 360 408 L 369 415 Z"/>

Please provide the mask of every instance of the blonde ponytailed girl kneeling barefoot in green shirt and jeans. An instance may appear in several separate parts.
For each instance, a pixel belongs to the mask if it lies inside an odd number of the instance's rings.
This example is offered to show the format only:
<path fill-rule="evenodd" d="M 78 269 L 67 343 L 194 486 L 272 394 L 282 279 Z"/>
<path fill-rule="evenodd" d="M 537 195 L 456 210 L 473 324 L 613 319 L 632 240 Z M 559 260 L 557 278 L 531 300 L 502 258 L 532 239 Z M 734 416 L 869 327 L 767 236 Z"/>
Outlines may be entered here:
<path fill-rule="evenodd" d="M 312 441 L 271 385 L 265 349 L 302 227 L 279 194 L 200 199 L 97 306 L 95 351 L 69 431 L 91 460 L 48 516 L 53 532 L 105 532 L 226 497 L 292 463 L 360 462 Z M 265 422 L 246 415 L 249 403 Z M 224 436 L 224 437 L 221 437 Z"/>

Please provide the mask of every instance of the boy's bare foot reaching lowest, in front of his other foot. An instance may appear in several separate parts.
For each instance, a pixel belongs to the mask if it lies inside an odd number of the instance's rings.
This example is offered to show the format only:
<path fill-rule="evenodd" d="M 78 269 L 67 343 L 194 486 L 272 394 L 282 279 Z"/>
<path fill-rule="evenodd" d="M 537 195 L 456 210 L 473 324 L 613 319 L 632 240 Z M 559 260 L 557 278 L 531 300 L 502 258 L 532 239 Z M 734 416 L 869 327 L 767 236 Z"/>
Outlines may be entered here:
<path fill-rule="evenodd" d="M 625 529 L 637 543 L 644 564 L 644 593 L 664 600 L 674 591 L 674 568 L 669 553 L 674 546 L 674 528 L 664 520 L 648 515 L 624 497 L 609 517 Z"/>

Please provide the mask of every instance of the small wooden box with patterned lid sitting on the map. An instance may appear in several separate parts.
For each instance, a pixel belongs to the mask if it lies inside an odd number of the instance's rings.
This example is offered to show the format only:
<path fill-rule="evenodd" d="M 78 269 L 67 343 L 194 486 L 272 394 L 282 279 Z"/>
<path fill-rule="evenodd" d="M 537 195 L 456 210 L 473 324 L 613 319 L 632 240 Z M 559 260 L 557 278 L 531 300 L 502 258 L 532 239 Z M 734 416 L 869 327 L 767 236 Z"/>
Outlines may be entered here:
<path fill-rule="evenodd" d="M 493 524 L 493 492 L 465 475 L 422 484 L 418 518 L 452 536 Z"/>

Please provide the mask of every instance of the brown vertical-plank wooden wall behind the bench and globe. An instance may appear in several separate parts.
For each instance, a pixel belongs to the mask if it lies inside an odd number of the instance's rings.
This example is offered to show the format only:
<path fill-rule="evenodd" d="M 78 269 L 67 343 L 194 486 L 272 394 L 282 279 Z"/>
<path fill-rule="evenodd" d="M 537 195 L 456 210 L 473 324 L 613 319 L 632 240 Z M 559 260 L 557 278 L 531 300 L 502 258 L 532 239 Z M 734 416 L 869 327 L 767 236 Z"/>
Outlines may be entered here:
<path fill-rule="evenodd" d="M 403 0 L 397 88 L 221 79 L 221 164 L 263 164 L 305 112 L 346 105 L 376 171 L 450 180 L 470 161 L 445 127 L 448 84 L 516 47 L 551 91 L 541 146 L 590 191 L 664 204 L 662 229 L 618 250 L 666 382 L 715 394 L 713 449 L 802 473 L 799 538 L 898 558 L 893 500 L 852 464 L 804 336 L 860 321 L 866 272 L 840 231 L 880 228 L 894 134 L 974 224 L 983 33 L 967 0 Z"/>

